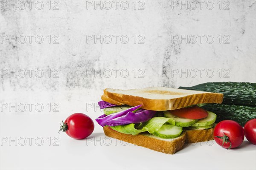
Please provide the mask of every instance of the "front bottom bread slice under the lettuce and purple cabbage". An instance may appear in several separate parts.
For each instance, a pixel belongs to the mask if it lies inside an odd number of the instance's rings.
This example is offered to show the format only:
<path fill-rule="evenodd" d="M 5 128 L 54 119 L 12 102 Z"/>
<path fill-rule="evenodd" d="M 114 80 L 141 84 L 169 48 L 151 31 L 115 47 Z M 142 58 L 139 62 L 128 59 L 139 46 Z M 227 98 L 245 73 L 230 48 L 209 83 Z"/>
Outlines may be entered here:
<path fill-rule="evenodd" d="M 182 149 L 186 140 L 186 133 L 184 132 L 174 139 L 162 139 L 149 133 L 140 133 L 136 136 L 128 135 L 117 132 L 110 127 L 103 127 L 103 130 L 106 136 L 167 154 L 174 154 Z"/>

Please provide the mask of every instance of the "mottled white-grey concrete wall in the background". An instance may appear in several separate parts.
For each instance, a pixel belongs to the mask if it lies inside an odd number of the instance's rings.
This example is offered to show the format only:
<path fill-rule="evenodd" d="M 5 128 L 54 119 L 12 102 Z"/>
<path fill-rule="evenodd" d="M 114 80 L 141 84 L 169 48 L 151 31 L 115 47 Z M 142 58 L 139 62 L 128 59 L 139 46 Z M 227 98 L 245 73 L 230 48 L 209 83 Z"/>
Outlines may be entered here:
<path fill-rule="evenodd" d="M 83 93 L 99 99 L 103 88 L 256 81 L 254 0 L 12 4 L 1 1 L 3 102 L 37 92 L 80 101 Z"/>

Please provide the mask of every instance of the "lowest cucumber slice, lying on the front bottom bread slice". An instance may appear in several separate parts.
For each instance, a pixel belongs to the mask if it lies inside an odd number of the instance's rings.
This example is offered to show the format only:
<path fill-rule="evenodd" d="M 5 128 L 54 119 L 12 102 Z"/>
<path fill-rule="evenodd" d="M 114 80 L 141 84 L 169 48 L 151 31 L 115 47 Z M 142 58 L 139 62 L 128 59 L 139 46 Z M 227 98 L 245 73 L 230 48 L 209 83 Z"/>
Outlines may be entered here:
<path fill-rule="evenodd" d="M 152 134 L 163 139 L 170 139 L 180 136 L 180 133 L 182 133 L 182 127 L 164 124 L 159 130 Z"/>

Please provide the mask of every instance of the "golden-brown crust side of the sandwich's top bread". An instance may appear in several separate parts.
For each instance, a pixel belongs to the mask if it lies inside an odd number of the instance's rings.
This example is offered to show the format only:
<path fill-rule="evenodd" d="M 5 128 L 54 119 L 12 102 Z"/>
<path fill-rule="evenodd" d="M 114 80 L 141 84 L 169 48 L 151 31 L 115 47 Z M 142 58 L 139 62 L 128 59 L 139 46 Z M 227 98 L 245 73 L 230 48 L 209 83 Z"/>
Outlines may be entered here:
<path fill-rule="evenodd" d="M 142 105 L 141 108 L 153 111 L 168 111 L 184 108 L 186 106 L 197 105 L 199 103 L 222 103 L 223 101 L 223 94 L 209 92 L 189 94 L 187 96 L 172 99 L 148 99 L 141 96 L 112 93 L 108 91 L 108 89 L 104 89 L 102 100 L 106 99 L 106 96 L 109 99 L 122 104 L 130 106 Z"/>

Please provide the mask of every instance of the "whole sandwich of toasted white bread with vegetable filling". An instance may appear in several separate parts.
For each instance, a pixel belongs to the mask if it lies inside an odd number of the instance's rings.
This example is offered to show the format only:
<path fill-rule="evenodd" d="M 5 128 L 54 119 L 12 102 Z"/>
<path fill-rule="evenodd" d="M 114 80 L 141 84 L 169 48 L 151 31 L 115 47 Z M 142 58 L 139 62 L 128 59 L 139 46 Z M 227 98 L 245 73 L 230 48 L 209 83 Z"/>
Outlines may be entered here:
<path fill-rule="evenodd" d="M 216 115 L 201 108 L 223 94 L 166 87 L 106 88 L 96 119 L 106 136 L 174 154 L 184 143 L 213 140 Z"/>

